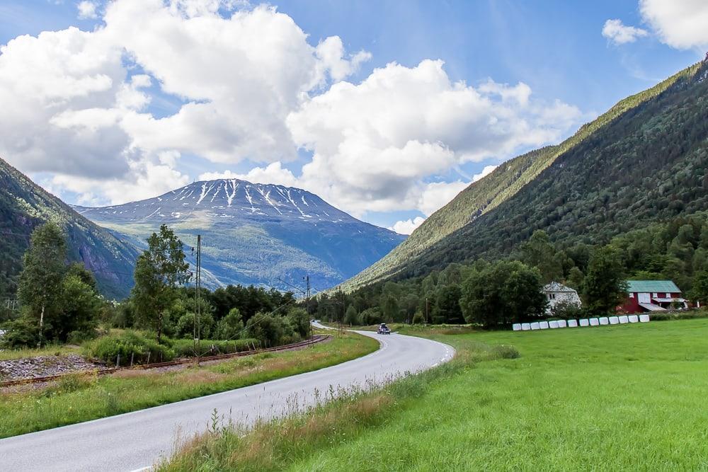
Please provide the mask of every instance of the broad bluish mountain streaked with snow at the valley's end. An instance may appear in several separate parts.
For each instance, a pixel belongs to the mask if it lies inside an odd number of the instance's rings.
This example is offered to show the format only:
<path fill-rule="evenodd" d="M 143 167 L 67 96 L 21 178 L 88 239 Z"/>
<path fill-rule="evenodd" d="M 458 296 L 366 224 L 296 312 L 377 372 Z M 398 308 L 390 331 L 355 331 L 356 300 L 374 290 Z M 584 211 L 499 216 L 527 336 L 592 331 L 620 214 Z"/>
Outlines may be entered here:
<path fill-rule="evenodd" d="M 338 284 L 382 258 L 405 236 L 351 217 L 299 188 L 225 179 L 111 207 L 74 207 L 136 246 L 168 224 L 188 246 L 202 235 L 203 280 L 287 289 L 309 275 Z"/>

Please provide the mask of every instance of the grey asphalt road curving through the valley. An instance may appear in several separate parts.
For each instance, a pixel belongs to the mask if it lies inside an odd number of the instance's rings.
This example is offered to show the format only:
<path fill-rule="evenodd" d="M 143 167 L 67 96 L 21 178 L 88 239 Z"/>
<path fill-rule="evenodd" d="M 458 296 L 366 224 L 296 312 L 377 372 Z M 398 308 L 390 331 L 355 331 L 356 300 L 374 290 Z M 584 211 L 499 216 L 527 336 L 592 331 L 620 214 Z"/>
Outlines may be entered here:
<path fill-rule="evenodd" d="M 169 455 L 176 437 L 206 429 L 212 412 L 253 422 L 312 404 L 331 386 L 365 386 L 452 359 L 452 347 L 399 334 L 377 335 L 381 348 L 325 369 L 133 413 L 0 439 L 2 471 L 135 471 Z"/>

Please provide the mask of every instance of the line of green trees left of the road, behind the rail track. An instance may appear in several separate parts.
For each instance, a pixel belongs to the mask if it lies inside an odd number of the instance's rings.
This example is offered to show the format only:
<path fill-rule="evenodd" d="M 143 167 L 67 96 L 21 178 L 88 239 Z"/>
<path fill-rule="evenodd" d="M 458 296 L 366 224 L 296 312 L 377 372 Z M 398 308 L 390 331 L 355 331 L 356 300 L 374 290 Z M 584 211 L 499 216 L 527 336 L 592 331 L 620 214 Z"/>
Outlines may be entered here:
<path fill-rule="evenodd" d="M 89 270 L 67 263 L 66 236 L 54 223 L 38 226 L 25 252 L 18 281 L 18 318 L 4 323 L 6 347 L 81 343 L 110 328 L 170 339 L 256 340 L 262 346 L 292 343 L 309 335 L 309 315 L 292 292 L 229 285 L 189 287 L 184 245 L 163 225 L 137 258 L 130 297 L 108 301 Z M 197 316 L 195 313 L 200 313 Z M 167 338 L 167 339 L 165 339 Z"/>

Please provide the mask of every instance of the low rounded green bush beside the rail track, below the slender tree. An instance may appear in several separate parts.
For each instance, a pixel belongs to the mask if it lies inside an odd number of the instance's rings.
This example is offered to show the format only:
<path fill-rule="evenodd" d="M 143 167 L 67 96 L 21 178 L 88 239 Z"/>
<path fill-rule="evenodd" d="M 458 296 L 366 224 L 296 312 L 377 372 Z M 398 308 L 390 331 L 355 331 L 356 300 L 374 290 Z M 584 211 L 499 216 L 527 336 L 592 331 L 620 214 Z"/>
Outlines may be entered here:
<path fill-rule="evenodd" d="M 83 354 L 85 357 L 100 359 L 109 365 L 130 365 L 130 359 L 135 364 L 148 362 L 167 362 L 175 358 L 175 352 L 166 345 L 158 344 L 155 340 L 145 338 L 137 331 L 125 331 L 120 335 L 105 336 L 84 343 Z"/>

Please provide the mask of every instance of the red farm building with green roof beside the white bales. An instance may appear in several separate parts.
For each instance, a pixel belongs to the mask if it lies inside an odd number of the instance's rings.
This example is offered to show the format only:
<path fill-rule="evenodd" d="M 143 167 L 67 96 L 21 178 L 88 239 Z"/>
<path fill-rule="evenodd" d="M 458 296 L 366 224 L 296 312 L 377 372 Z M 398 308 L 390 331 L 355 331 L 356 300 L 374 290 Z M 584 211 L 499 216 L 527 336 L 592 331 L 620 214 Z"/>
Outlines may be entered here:
<path fill-rule="evenodd" d="M 670 280 L 627 280 L 627 300 L 622 305 L 624 313 L 666 311 L 677 306 L 687 308 L 681 290 Z"/>

